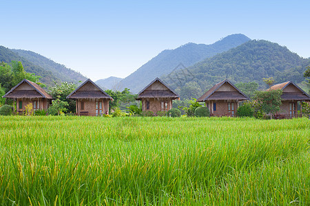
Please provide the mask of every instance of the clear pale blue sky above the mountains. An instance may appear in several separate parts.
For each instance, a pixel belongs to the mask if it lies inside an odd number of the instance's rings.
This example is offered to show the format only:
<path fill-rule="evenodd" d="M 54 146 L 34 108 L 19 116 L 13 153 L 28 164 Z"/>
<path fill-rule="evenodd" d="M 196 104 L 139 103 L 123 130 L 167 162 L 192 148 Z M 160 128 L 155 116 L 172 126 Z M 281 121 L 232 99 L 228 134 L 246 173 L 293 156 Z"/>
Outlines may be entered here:
<path fill-rule="evenodd" d="M 164 49 L 245 34 L 310 57 L 310 1 L 3 1 L 0 45 L 92 80 L 124 78 Z"/>

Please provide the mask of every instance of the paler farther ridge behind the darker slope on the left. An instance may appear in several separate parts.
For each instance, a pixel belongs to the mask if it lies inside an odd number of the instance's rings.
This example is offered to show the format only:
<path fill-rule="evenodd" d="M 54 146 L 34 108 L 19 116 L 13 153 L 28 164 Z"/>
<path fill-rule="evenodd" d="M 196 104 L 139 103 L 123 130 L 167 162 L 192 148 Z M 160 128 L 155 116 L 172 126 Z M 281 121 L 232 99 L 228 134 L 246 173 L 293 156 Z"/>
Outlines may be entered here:
<path fill-rule="evenodd" d="M 68 69 L 65 65 L 56 63 L 40 54 L 35 52 L 26 51 L 22 49 L 12 49 L 13 52 L 19 54 L 19 56 L 27 59 L 28 61 L 38 65 L 48 71 L 51 71 L 52 74 L 60 80 L 60 82 L 74 82 L 78 83 L 79 81 L 84 82 L 87 80 L 85 76 L 81 73 L 76 72 L 72 69 Z"/>

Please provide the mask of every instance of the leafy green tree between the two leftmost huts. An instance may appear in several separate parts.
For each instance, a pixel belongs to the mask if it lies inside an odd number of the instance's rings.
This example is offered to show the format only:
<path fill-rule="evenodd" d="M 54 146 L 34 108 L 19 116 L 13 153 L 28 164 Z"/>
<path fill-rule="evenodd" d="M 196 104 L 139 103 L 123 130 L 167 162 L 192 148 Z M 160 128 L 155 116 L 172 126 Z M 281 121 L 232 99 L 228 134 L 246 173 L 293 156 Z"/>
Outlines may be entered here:
<path fill-rule="evenodd" d="M 76 84 L 63 82 L 62 84 L 58 84 L 54 82 L 55 86 L 50 87 L 50 95 L 54 99 L 59 99 L 61 102 L 67 102 L 65 105 L 65 111 L 68 113 L 75 113 L 76 102 L 74 100 L 67 99 L 67 96 L 76 89 Z"/>

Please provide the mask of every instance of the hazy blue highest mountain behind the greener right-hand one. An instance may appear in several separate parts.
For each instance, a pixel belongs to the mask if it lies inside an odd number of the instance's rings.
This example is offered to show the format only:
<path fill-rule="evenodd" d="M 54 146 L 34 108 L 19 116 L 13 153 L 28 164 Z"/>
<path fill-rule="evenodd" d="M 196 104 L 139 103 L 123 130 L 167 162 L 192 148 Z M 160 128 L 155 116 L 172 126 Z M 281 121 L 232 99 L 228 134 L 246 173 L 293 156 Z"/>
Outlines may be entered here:
<path fill-rule="evenodd" d="M 167 75 L 180 64 L 189 67 L 200 60 L 225 52 L 247 41 L 250 39 L 243 34 L 232 34 L 211 45 L 187 43 L 176 49 L 164 50 L 124 78 L 118 84 L 118 88 L 122 90 L 127 87 L 130 91 L 138 93 L 154 78 Z"/>

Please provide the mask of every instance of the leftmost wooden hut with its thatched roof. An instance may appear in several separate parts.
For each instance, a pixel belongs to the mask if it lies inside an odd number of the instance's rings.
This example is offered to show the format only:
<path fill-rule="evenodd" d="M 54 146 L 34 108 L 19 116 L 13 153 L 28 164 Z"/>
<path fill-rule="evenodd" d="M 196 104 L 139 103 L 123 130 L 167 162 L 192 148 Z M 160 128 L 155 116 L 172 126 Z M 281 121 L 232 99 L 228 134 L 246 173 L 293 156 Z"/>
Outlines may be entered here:
<path fill-rule="evenodd" d="M 33 110 L 47 110 L 51 104 L 52 96 L 38 84 L 30 80 L 23 79 L 19 84 L 13 87 L 8 93 L 3 95 L 3 98 L 8 98 L 17 102 L 16 108 L 18 113 L 25 111 L 25 106 L 32 104 Z"/>

